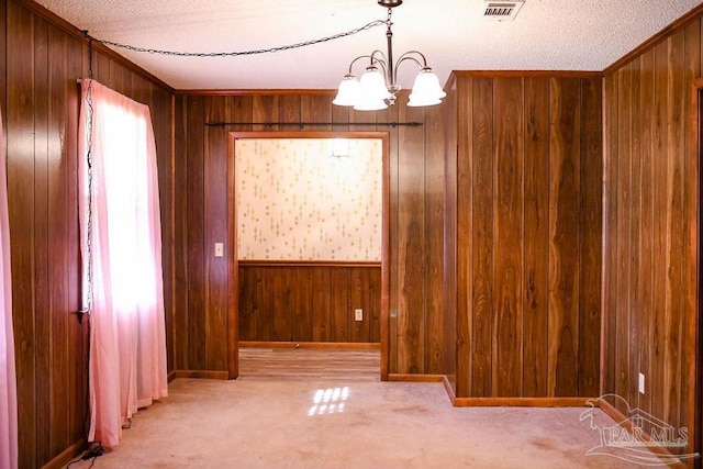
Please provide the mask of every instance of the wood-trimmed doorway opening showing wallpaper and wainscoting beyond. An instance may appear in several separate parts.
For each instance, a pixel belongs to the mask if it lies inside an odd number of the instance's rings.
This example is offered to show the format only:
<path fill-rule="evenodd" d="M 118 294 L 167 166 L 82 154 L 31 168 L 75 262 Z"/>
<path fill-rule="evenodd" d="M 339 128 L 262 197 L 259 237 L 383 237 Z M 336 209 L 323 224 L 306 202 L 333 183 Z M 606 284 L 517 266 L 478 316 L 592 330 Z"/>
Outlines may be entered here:
<path fill-rule="evenodd" d="M 239 376 L 242 337 L 379 343 L 388 379 L 389 152 L 383 132 L 230 133 L 230 379 Z"/>

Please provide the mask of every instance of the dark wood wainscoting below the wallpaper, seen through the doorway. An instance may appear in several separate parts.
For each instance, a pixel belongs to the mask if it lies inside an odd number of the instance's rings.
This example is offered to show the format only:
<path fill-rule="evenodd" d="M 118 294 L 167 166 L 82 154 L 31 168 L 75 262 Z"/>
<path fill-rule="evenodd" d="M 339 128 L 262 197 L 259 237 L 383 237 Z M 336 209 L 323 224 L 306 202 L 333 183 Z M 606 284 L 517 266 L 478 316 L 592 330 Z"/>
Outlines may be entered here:
<path fill-rule="evenodd" d="M 381 342 L 380 264 L 241 260 L 238 270 L 239 340 Z"/>

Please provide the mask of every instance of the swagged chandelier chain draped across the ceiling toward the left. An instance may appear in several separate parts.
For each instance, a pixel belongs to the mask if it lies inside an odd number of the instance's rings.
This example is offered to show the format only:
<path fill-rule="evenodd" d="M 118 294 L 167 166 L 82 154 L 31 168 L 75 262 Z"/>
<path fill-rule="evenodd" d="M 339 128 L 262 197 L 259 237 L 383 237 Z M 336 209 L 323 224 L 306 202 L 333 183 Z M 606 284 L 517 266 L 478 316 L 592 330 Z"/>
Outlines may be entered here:
<path fill-rule="evenodd" d="M 238 52 L 178 52 L 178 51 L 163 51 L 156 48 L 148 47 L 138 47 L 130 44 L 122 44 L 114 41 L 100 40 L 97 37 L 92 37 L 88 34 L 88 31 L 83 31 L 83 34 L 89 37 L 90 41 L 98 42 L 100 44 L 119 47 L 126 51 L 137 52 L 137 53 L 147 53 L 147 54 L 157 54 L 157 55 L 166 55 L 166 56 L 175 56 L 175 57 L 238 57 L 243 55 L 257 55 L 257 54 L 268 54 L 276 53 L 282 51 L 290 51 L 301 47 L 306 47 L 315 44 L 326 43 L 328 41 L 338 40 L 342 37 L 352 36 L 354 34 L 358 34 L 364 31 L 368 31 L 376 26 L 381 26 L 384 24 L 390 25 L 390 9 L 388 14 L 388 20 L 376 20 L 370 23 L 365 24 L 360 27 L 355 27 L 354 30 L 345 31 L 343 33 L 333 34 L 331 36 L 321 37 L 319 40 L 304 41 L 295 44 L 288 44 L 282 46 L 269 47 L 269 48 L 259 48 L 254 51 L 238 51 Z"/>

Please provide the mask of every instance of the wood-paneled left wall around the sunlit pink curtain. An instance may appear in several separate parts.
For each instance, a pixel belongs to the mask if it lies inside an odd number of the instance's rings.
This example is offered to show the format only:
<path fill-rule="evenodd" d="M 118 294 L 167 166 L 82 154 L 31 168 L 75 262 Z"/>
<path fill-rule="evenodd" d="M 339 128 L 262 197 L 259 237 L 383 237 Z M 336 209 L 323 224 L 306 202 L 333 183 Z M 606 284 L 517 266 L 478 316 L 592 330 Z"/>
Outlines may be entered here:
<path fill-rule="evenodd" d="M 102 83 L 152 108 L 161 183 L 164 271 L 168 272 L 170 91 L 103 53 L 96 53 L 93 71 Z M 0 7 L 0 76 L 20 467 L 35 468 L 85 437 L 88 321 L 79 324 L 75 314 L 80 309 L 76 79 L 88 76 L 87 43 L 79 31 L 36 4 L 8 0 Z M 170 309 L 171 283 L 165 280 Z"/>

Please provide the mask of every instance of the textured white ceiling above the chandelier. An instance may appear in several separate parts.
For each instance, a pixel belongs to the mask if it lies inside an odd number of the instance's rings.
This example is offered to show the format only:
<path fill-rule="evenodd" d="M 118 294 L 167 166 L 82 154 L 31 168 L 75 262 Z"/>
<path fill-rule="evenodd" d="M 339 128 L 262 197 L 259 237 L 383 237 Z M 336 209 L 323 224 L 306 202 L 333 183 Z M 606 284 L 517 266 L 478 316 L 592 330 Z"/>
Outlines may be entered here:
<path fill-rule="evenodd" d="M 179 52 L 235 52 L 316 40 L 384 20 L 376 0 L 36 0 L 90 35 Z M 526 0 L 515 21 L 482 18 L 484 0 L 405 0 L 394 55 L 423 52 L 451 70 L 603 70 L 703 0 Z M 386 51 L 386 27 L 295 51 L 182 58 L 118 49 L 176 89 L 334 89 L 350 60 Z M 362 70 L 357 70 L 357 75 Z M 412 86 L 406 63 L 400 82 Z"/>

